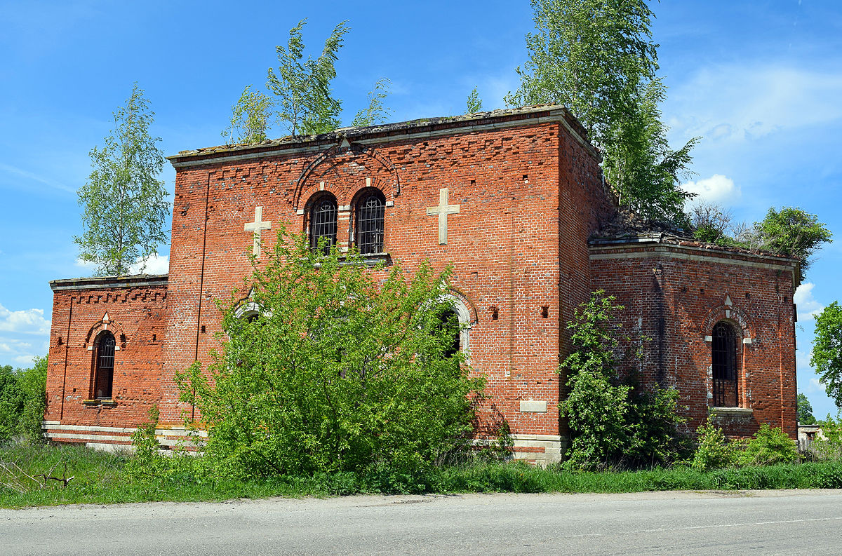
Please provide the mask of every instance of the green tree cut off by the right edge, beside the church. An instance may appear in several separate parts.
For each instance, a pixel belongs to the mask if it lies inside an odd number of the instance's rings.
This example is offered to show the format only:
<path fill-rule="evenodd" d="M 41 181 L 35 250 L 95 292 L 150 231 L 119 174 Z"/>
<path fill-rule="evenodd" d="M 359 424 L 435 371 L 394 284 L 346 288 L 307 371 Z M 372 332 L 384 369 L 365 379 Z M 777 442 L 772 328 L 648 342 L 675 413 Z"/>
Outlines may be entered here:
<path fill-rule="evenodd" d="M 828 396 L 842 409 L 842 306 L 836 301 L 816 317 L 810 365 Z"/>

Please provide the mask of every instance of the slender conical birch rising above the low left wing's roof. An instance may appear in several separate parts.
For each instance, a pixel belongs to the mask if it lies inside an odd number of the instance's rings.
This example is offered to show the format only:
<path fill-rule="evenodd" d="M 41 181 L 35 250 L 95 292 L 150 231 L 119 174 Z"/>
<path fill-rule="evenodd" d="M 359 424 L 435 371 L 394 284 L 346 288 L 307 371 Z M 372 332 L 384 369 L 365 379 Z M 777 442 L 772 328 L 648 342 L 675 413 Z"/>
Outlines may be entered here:
<path fill-rule="evenodd" d="M 90 152 L 93 172 L 79 189 L 82 236 L 74 236 L 80 258 L 100 276 L 129 272 L 167 241 L 169 203 L 157 175 L 163 169 L 159 137 L 149 135 L 155 114 L 137 83 L 125 106 L 114 113 L 114 130 Z"/>

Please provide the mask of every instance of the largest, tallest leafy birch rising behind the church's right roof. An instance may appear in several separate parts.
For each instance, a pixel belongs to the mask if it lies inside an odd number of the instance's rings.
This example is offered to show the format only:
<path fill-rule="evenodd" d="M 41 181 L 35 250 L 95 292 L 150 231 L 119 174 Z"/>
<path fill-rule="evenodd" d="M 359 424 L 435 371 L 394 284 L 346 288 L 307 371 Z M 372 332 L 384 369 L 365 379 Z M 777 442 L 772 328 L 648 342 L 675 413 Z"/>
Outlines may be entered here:
<path fill-rule="evenodd" d="M 506 102 L 563 104 L 603 152 L 620 203 L 642 217 L 684 225 L 692 139 L 674 151 L 659 103 L 658 55 L 646 0 L 532 0 L 530 60 Z"/>

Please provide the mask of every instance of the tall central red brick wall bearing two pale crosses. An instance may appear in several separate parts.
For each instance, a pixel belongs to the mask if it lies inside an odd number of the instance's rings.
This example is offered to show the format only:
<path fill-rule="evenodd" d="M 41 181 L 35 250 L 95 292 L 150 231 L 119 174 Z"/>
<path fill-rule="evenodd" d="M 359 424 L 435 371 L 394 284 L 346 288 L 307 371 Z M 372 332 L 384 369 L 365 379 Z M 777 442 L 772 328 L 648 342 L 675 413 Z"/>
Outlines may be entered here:
<path fill-rule="evenodd" d="M 368 177 L 394 204 L 386 208 L 385 251 L 392 259 L 409 271 L 424 259 L 455 267 L 453 287 L 476 314 L 471 362 L 487 379 L 486 420 L 504 417 L 514 433 L 558 434 L 559 338 L 589 293 L 587 238 L 610 211 L 593 151 L 559 122 L 386 135 L 368 143 L 373 151 L 328 151 L 335 144 L 176 164 L 162 421 L 180 423 L 190 410 L 176 401 L 173 372 L 196 357 L 207 362 L 219 345 L 214 301 L 228 299 L 249 272 L 252 235 L 243 225 L 253 221 L 255 207 L 272 223 L 263 232 L 270 247 L 281 223 L 304 229 L 307 199 L 322 183 L 339 205 L 349 205 Z M 448 217 L 445 246 L 438 243 L 438 217 L 426 214 L 439 204 L 440 188 L 460 205 Z M 338 241 L 345 243 L 348 214 L 338 220 Z M 520 400 L 546 400 L 547 411 L 522 413 Z"/>

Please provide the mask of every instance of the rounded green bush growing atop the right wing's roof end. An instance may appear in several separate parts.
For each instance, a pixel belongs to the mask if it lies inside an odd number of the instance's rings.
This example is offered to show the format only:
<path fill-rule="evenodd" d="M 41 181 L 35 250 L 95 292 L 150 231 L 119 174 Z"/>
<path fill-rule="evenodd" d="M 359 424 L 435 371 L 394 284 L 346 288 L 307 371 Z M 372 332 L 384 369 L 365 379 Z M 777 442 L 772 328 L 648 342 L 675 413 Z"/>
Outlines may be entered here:
<path fill-rule="evenodd" d="M 818 216 L 793 207 L 784 207 L 780 212 L 775 207 L 770 208 L 765 219 L 754 227 L 765 249 L 801 262 L 797 283 L 802 283 L 813 252 L 823 243 L 833 241 L 833 234 L 818 221 Z"/>

